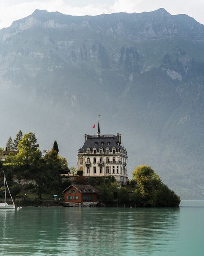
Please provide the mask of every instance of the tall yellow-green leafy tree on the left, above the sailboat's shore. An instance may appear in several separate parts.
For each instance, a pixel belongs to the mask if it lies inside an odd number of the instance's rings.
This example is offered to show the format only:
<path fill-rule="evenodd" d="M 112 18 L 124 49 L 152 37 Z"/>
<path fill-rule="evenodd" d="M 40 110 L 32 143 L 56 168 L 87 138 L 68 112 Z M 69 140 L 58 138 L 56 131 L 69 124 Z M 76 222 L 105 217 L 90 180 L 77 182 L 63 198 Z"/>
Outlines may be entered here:
<path fill-rule="evenodd" d="M 35 134 L 29 132 L 23 136 L 21 141 L 19 141 L 19 153 L 17 156 L 20 161 L 26 165 L 33 165 L 34 163 L 36 164 L 37 160 L 39 160 L 41 157 L 41 152 L 38 147 L 39 144 L 37 144 Z"/>

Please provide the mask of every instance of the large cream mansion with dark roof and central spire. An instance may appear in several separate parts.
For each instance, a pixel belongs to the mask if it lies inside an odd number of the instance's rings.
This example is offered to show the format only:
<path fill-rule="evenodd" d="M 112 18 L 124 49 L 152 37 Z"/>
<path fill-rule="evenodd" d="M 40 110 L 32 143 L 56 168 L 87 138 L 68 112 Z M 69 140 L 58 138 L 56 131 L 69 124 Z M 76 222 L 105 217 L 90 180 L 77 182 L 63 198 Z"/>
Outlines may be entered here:
<path fill-rule="evenodd" d="M 127 150 L 121 145 L 121 134 L 84 135 L 83 147 L 77 157 L 78 170 L 83 176 L 114 176 L 117 182 L 127 184 Z"/>

